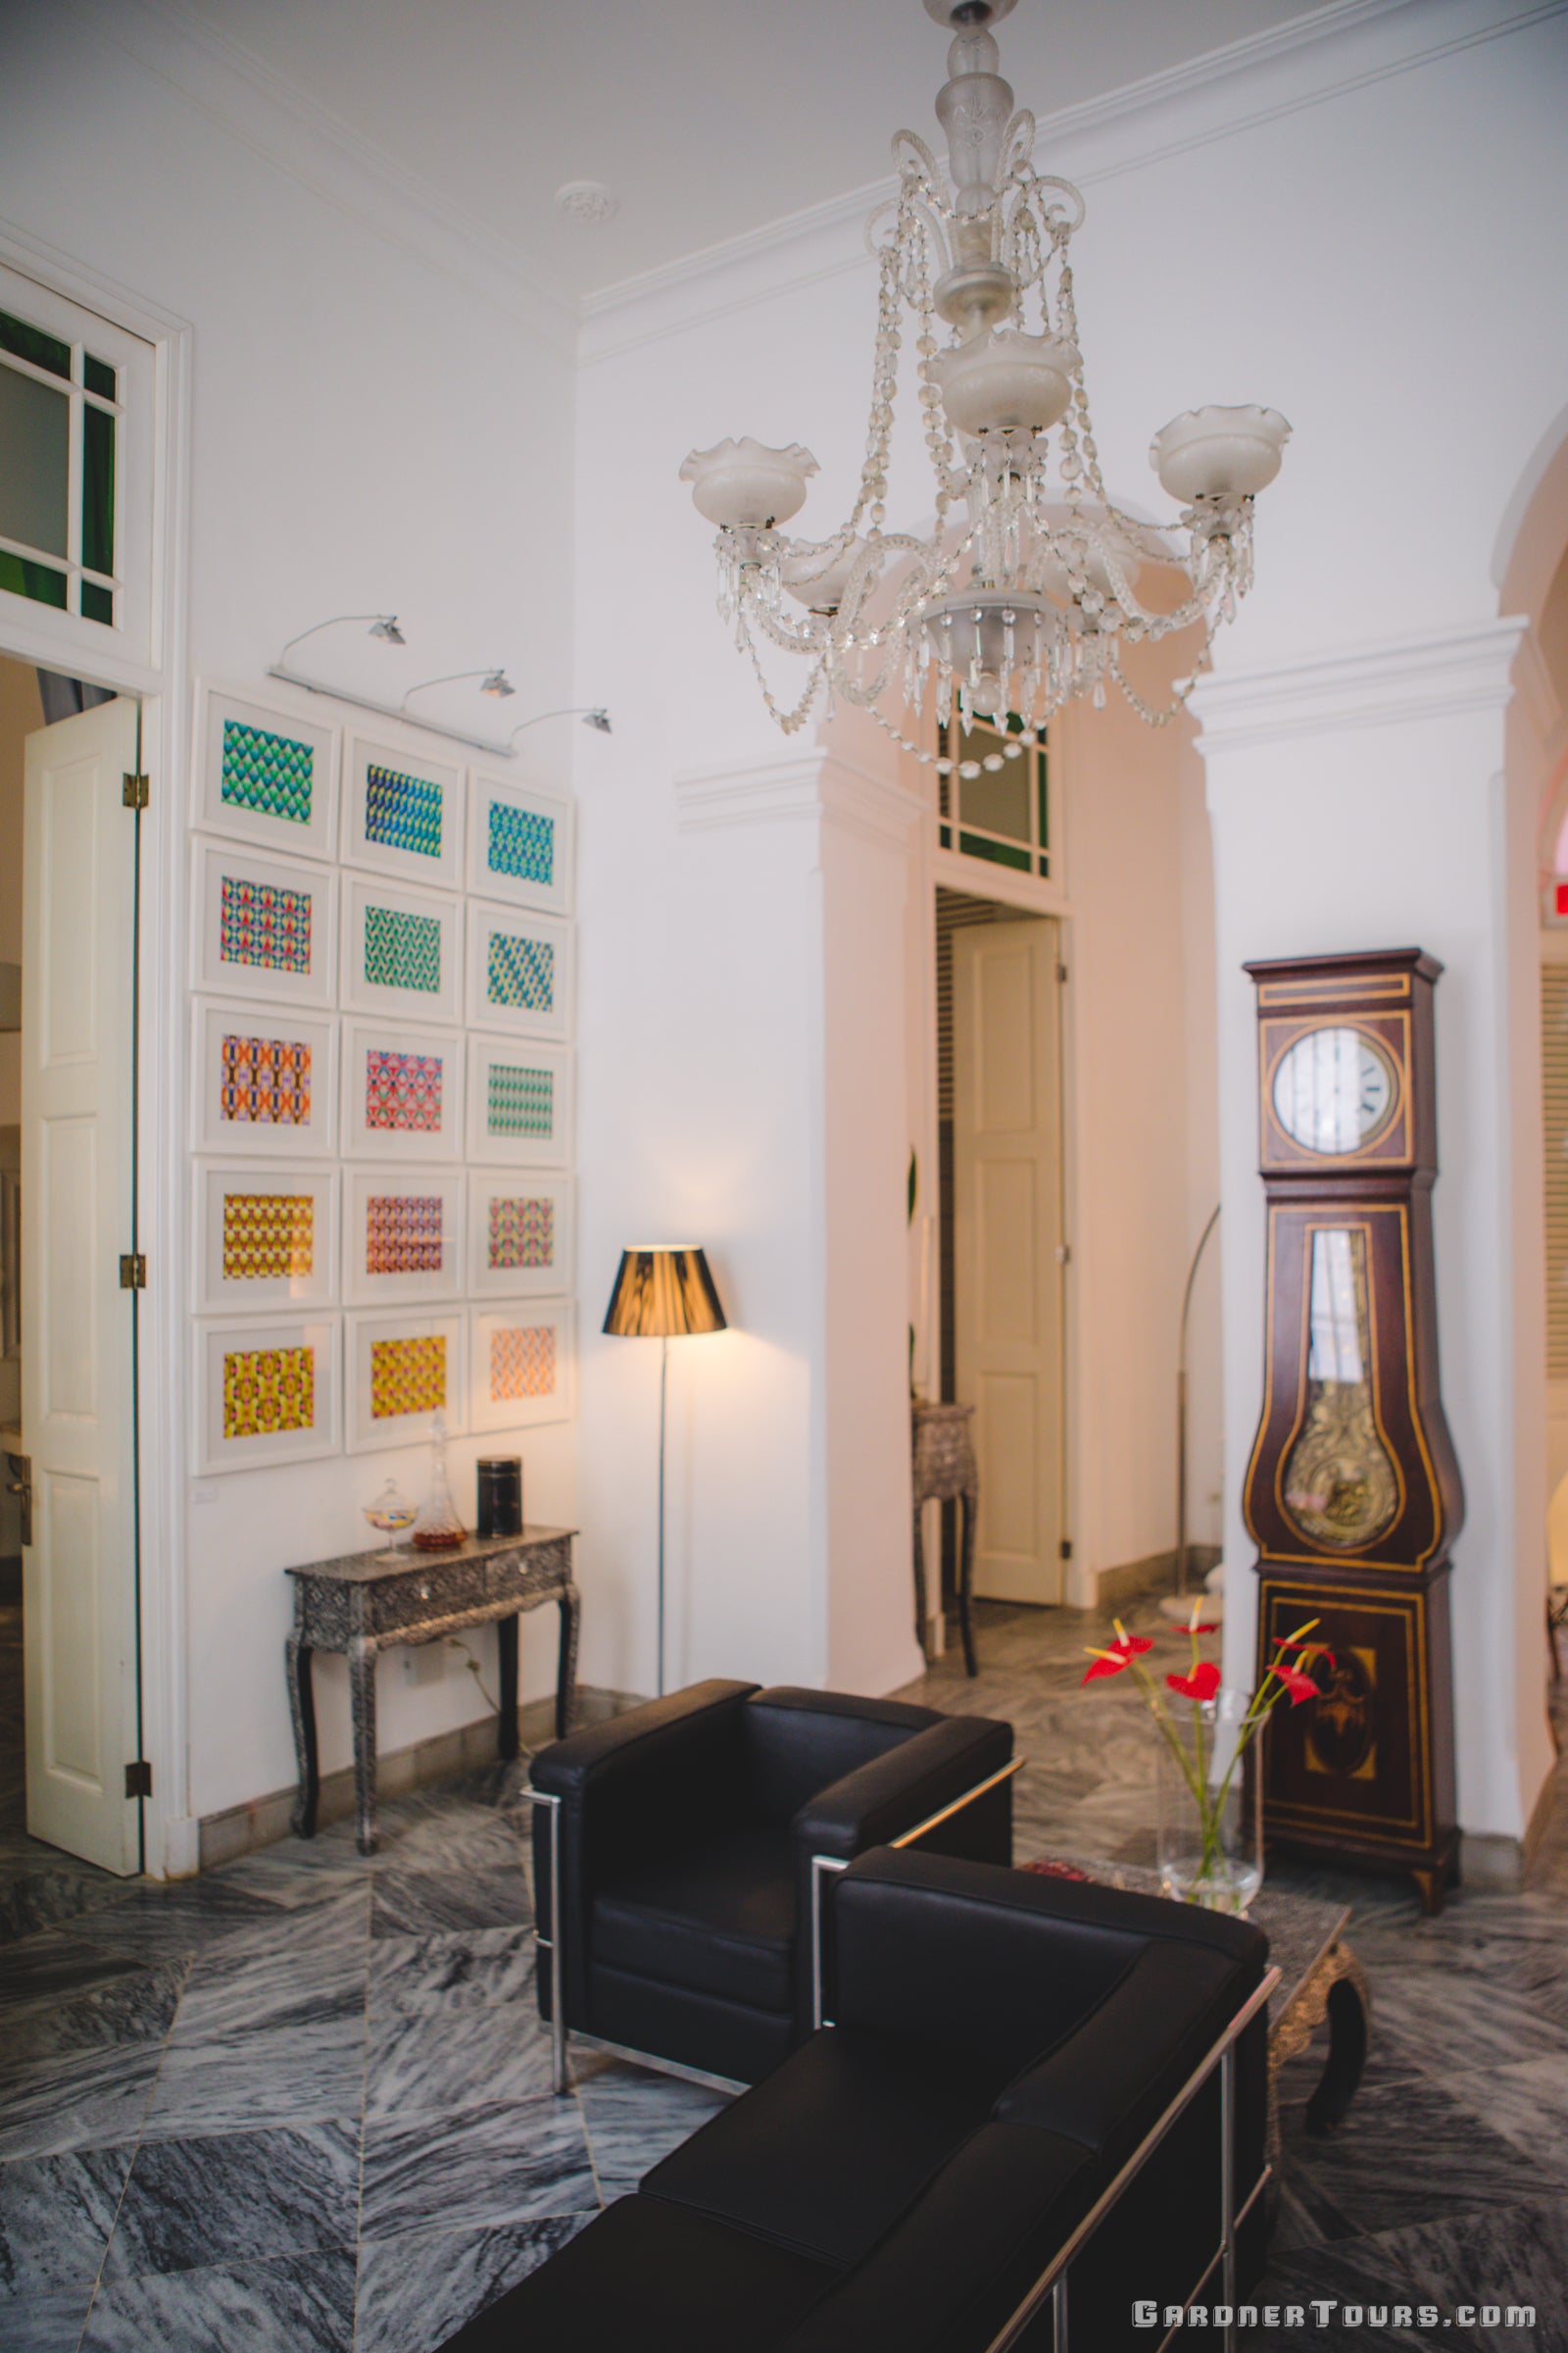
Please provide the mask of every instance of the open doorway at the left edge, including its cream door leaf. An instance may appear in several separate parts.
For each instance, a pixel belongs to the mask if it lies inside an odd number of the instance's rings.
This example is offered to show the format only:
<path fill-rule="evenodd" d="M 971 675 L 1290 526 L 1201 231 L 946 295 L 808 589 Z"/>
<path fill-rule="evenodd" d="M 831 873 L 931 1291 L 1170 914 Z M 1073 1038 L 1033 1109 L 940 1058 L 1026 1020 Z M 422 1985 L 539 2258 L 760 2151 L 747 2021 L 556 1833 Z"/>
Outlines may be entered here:
<path fill-rule="evenodd" d="M 134 699 L 0 656 L 0 1835 L 120 1875 L 143 1868 L 136 776 Z"/>

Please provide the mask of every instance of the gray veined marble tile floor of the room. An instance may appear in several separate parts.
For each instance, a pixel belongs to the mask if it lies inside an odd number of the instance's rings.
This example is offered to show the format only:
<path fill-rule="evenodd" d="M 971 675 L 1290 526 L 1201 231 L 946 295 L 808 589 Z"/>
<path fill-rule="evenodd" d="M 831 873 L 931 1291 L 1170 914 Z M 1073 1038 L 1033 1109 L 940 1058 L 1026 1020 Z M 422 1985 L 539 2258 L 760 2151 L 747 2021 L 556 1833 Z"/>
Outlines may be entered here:
<path fill-rule="evenodd" d="M 980 1678 L 950 1652 L 910 1692 L 1016 1722 L 1020 1859 L 1150 1849 L 1138 1701 L 1079 1689 L 1095 1624 L 985 1609 Z M 712 2111 L 588 2054 L 550 2097 L 524 1772 L 383 1807 L 371 1861 L 339 1824 L 158 1887 L 28 1840 L 0 1746 L 5 2353 L 433 2353 Z M 1291 2071 L 1269 2294 L 1535 2304 L 1528 2337 L 1307 2334 L 1568 2353 L 1568 1805 L 1526 1892 L 1436 1922 L 1392 1880 L 1276 1878 L 1354 1904 L 1375 2042 L 1335 2139 L 1302 2132 L 1312 2059 Z"/>

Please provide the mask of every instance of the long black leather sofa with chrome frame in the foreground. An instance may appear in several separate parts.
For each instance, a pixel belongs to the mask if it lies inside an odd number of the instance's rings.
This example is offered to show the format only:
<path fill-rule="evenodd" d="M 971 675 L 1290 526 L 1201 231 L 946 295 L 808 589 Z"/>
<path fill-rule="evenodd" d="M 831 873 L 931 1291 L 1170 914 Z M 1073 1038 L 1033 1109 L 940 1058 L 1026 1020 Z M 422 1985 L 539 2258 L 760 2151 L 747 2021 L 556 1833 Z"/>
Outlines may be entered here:
<path fill-rule="evenodd" d="M 1265 1962 L 1244 1920 L 863 1854 L 837 1889 L 837 2021 L 447 2353 L 987 2353 Z M 1072 2257 L 1070 2348 L 1147 2353 L 1168 2306 L 1222 2301 L 1225 2144 L 1234 2289 L 1255 2282 L 1265 2101 L 1258 2009 Z M 1056 2348 L 1056 2299 L 1006 2341 Z M 1182 2327 L 1190 2341 L 1220 2332 Z"/>

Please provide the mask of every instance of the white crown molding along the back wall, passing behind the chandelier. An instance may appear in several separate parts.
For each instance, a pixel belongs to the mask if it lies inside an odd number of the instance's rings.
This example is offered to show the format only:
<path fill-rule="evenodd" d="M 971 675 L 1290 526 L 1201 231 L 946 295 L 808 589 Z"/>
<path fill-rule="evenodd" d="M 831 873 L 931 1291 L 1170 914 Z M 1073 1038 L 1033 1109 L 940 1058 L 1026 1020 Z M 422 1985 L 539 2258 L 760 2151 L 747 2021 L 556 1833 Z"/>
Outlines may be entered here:
<path fill-rule="evenodd" d="M 1340 0 L 1314 16 L 1041 115 L 1034 155 L 1044 167 L 1093 186 L 1521 33 L 1566 9 L 1568 0 Z M 585 296 L 583 362 L 851 268 L 872 271 L 865 219 L 896 186 L 891 176 L 872 181 Z"/>

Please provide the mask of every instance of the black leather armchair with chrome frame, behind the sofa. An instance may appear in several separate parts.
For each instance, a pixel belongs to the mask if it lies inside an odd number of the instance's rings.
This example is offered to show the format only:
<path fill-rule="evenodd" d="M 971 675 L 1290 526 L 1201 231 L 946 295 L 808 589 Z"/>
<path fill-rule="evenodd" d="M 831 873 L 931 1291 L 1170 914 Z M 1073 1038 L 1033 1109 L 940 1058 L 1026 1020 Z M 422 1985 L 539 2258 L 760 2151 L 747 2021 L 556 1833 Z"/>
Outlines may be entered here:
<path fill-rule="evenodd" d="M 839 1871 L 922 1826 L 931 1852 L 1009 1864 L 1011 1758 L 1011 1725 L 990 1718 L 717 1680 L 541 1751 L 555 2089 L 569 2031 L 755 2082 L 823 2017 Z"/>

